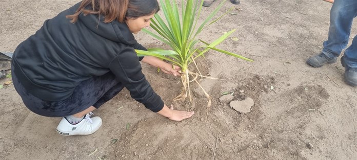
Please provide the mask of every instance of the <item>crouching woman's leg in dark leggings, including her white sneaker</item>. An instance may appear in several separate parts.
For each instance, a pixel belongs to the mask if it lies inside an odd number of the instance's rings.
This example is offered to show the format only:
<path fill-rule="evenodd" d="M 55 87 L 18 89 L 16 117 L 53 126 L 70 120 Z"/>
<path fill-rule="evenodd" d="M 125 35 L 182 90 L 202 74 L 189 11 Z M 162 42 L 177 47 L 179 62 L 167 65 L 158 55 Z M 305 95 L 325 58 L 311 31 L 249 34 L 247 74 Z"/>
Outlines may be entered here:
<path fill-rule="evenodd" d="M 112 73 L 92 77 L 78 85 L 72 94 L 63 101 L 44 101 L 26 92 L 12 69 L 14 87 L 24 104 L 34 113 L 45 117 L 64 117 L 57 126 L 62 135 L 91 134 L 102 125 L 100 117 L 89 118 L 94 109 L 114 97 L 123 86 Z M 95 105 L 95 107 L 93 106 Z"/>

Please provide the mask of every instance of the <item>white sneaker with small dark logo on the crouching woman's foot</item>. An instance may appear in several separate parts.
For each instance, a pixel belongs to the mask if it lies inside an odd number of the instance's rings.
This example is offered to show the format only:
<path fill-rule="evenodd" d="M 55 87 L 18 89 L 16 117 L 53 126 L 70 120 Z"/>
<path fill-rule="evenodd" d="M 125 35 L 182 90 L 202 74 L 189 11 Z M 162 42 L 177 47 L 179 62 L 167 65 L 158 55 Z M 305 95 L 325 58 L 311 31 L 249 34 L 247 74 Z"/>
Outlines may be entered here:
<path fill-rule="evenodd" d="M 102 119 L 100 117 L 93 117 L 93 113 L 88 113 L 84 119 L 77 124 L 70 124 L 65 118 L 62 118 L 60 124 L 57 126 L 57 132 L 61 135 L 88 135 L 97 131 L 102 126 Z"/>

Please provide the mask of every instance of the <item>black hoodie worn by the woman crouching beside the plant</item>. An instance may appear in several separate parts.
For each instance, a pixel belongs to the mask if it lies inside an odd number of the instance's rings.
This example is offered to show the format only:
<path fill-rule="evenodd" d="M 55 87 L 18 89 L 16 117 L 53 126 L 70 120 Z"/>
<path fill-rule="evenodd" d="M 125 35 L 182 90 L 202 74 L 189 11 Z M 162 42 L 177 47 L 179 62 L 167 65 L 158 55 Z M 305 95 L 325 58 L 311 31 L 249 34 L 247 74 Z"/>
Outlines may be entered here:
<path fill-rule="evenodd" d="M 25 89 L 39 99 L 61 101 L 82 81 L 112 72 L 132 98 L 154 112 L 160 111 L 164 102 L 146 80 L 142 58 L 134 51 L 146 49 L 137 43 L 128 26 L 117 20 L 104 23 L 103 17 L 81 14 L 72 24 L 66 15 L 79 6 L 46 20 L 16 48 L 14 74 Z"/>

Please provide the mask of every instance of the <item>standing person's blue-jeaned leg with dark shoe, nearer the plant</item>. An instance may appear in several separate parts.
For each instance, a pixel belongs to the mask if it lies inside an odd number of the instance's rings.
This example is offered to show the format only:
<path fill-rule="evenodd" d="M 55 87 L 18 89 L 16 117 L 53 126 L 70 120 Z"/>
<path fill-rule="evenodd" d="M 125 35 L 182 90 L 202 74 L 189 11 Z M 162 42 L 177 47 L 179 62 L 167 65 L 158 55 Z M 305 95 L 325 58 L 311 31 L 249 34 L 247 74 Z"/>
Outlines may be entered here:
<path fill-rule="evenodd" d="M 330 28 L 328 40 L 324 41 L 322 53 L 307 60 L 313 67 L 321 67 L 326 63 L 336 62 L 342 50 L 346 47 L 350 35 L 353 18 L 355 17 L 354 0 L 336 0 L 330 11 Z"/>

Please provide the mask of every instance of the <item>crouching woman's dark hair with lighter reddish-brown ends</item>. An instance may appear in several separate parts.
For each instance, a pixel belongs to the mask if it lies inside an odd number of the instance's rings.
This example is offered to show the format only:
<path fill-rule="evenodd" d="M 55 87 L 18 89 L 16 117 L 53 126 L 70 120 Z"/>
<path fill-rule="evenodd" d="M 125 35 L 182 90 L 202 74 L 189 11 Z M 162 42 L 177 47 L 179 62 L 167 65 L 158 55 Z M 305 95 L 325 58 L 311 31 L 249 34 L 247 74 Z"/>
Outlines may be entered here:
<path fill-rule="evenodd" d="M 160 6 L 156 0 L 83 0 L 76 12 L 66 17 L 75 23 L 81 13 L 98 14 L 104 16 L 104 22 L 111 22 L 115 19 L 124 22 L 126 18 L 135 19 L 157 13 L 159 10 Z"/>

